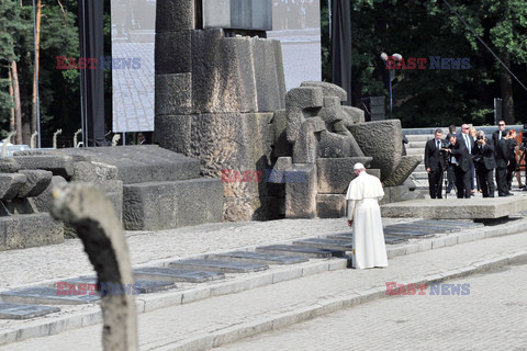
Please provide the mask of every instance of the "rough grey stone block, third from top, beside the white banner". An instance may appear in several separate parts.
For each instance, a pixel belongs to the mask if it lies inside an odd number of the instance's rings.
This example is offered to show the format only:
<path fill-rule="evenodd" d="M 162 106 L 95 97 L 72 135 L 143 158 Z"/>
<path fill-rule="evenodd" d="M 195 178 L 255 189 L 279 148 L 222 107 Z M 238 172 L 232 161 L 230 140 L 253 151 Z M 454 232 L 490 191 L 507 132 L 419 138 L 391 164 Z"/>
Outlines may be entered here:
<path fill-rule="evenodd" d="M 156 75 L 156 115 L 189 114 L 192 112 L 192 75 Z"/>

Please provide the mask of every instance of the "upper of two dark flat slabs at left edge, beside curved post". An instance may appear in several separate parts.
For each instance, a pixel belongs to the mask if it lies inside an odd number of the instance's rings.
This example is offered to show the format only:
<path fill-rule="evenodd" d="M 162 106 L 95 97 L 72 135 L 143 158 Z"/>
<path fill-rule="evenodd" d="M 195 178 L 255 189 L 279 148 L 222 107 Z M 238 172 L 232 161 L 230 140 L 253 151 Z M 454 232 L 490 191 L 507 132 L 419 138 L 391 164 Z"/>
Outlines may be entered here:
<path fill-rule="evenodd" d="M 36 286 L 2 292 L 0 298 L 5 303 L 14 304 L 51 304 L 51 305 L 82 305 L 100 299 L 98 295 L 89 293 L 82 295 L 58 295 L 56 287 Z"/>

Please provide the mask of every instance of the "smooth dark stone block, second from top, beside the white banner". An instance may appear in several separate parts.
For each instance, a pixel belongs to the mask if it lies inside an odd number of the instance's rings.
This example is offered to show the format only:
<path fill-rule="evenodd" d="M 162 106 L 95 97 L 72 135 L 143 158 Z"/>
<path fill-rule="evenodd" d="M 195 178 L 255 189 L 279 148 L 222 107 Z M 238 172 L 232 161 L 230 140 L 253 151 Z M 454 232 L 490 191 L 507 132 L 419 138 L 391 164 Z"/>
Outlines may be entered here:
<path fill-rule="evenodd" d="M 191 71 L 191 31 L 156 34 L 156 75 Z"/>

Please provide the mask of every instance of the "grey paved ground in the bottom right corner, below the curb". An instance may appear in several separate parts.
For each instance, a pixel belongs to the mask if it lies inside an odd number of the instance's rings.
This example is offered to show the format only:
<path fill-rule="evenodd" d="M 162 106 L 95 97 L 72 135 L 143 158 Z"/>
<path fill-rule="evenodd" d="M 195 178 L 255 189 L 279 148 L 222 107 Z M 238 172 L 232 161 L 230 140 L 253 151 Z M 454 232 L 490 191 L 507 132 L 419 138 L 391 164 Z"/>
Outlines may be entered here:
<path fill-rule="evenodd" d="M 403 296 L 360 305 L 218 348 L 235 350 L 527 350 L 527 265 L 453 284 L 466 296 Z"/>

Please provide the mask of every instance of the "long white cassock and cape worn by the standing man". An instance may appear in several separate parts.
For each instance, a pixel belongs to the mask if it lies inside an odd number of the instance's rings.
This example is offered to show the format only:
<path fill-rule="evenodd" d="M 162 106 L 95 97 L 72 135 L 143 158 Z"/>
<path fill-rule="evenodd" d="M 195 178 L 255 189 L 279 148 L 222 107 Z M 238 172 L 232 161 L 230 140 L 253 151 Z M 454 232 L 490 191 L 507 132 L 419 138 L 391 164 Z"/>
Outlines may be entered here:
<path fill-rule="evenodd" d="M 379 200 L 384 196 L 381 181 L 361 172 L 349 183 L 346 200 L 348 220 L 354 219 L 354 268 L 388 267 Z"/>

